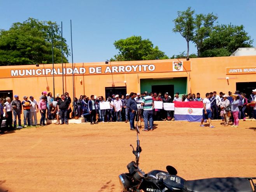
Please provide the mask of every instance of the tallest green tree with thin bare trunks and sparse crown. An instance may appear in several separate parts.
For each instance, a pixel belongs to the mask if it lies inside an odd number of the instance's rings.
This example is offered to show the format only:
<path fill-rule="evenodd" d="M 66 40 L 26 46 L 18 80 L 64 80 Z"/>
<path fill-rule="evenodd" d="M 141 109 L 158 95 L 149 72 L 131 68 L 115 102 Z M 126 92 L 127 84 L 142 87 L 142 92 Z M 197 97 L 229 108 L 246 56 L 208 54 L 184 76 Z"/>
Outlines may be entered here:
<path fill-rule="evenodd" d="M 209 36 L 212 31 L 217 16 L 213 13 L 207 15 L 196 14 L 195 10 L 188 7 L 186 11 L 178 11 L 178 17 L 174 19 L 175 27 L 172 29 L 175 33 L 180 33 L 187 42 L 187 58 L 189 57 L 189 42 L 195 43 L 197 48 L 197 57 L 200 56 L 200 50 L 203 40 Z"/>

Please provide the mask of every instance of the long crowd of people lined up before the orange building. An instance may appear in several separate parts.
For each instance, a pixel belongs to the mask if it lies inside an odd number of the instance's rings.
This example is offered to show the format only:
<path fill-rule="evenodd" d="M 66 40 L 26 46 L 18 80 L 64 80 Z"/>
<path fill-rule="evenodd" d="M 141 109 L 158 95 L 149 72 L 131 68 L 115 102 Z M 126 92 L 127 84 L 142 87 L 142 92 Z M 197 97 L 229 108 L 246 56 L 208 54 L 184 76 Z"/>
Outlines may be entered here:
<path fill-rule="evenodd" d="M 205 99 L 202 99 L 200 93 L 189 93 L 179 97 L 179 93 L 175 93 L 174 99 L 168 93 L 130 93 L 124 95 L 112 94 L 112 97 L 105 99 L 103 96 L 95 97 L 95 95 L 80 95 L 79 99 L 74 98 L 72 102 L 68 92 L 64 95 L 56 94 L 54 98 L 52 93 L 42 92 L 39 102 L 30 96 L 23 97 L 23 101 L 19 100 L 19 95 L 14 95 L 11 101 L 7 97 L 0 98 L 0 126 L 2 124 L 3 115 L 6 117 L 6 129 L 1 128 L 0 133 L 6 130 L 11 131 L 27 126 L 36 126 L 37 113 L 40 112 L 40 126 L 46 126 L 46 119 L 56 119 L 56 125 L 68 124 L 70 118 L 85 118 L 86 122 L 91 125 L 99 122 L 125 121 L 130 122 L 130 129 L 135 130 L 134 122 L 144 121 L 144 131 L 153 130 L 153 121 L 170 121 L 174 120 L 174 111 L 165 111 L 164 109 L 154 109 L 154 101 L 163 101 L 163 103 L 179 102 L 203 102 L 203 121 L 208 119 L 210 127 L 212 119 L 223 119 L 224 126 L 227 126 L 230 119 L 234 122 L 232 126 L 237 127 L 239 119 L 256 118 L 256 89 L 252 90 L 252 94 L 247 99 L 245 93 L 235 91 L 225 94 L 216 91 L 206 93 Z M 101 102 L 109 102 L 109 109 L 100 109 Z M 72 110 L 73 109 L 73 110 Z M 23 126 L 21 124 L 21 114 L 24 115 Z M 13 114 L 13 115 L 12 115 Z M 71 115 L 71 117 L 70 117 Z M 13 117 L 13 118 L 12 118 Z M 18 125 L 17 125 L 18 118 Z M 13 122 L 13 126 L 12 126 Z"/>

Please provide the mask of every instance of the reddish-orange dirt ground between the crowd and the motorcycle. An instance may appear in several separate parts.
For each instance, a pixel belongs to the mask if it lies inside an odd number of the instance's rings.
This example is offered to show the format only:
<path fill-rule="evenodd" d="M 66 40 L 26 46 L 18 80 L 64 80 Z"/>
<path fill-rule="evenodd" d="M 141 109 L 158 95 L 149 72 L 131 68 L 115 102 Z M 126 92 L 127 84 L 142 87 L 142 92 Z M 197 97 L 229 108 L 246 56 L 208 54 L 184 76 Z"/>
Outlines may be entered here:
<path fill-rule="evenodd" d="M 155 122 L 141 131 L 140 168 L 172 165 L 186 180 L 256 177 L 256 121 L 239 128 Z M 128 123 L 48 125 L 0 135 L 0 187 L 8 192 L 121 192 L 118 175 L 133 161 Z"/>

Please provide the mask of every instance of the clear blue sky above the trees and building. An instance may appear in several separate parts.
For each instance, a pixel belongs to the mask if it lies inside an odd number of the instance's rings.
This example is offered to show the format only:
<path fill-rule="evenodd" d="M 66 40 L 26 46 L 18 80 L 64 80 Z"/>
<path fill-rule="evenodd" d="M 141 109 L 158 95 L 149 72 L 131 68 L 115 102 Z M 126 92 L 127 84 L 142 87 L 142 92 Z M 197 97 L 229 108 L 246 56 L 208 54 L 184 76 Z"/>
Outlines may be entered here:
<path fill-rule="evenodd" d="M 40 21 L 63 22 L 63 37 L 69 48 L 70 19 L 74 62 L 102 62 L 118 50 L 115 40 L 140 35 L 169 57 L 186 51 L 186 41 L 173 33 L 177 11 L 192 7 L 196 14 L 213 12 L 219 24 L 245 26 L 256 47 L 255 0 L 0 0 L 0 29 L 28 17 Z M 190 44 L 190 53 L 196 48 Z M 68 57 L 71 62 L 71 57 Z"/>

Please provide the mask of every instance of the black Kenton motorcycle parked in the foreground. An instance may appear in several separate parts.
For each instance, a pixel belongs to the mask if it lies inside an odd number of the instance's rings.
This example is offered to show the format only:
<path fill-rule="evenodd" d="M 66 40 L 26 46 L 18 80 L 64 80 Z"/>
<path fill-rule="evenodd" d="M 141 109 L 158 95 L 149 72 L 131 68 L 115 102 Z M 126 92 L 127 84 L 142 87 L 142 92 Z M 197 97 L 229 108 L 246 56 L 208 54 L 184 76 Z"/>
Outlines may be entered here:
<path fill-rule="evenodd" d="M 123 192 L 256 192 L 256 177 L 225 177 L 185 180 L 177 175 L 177 170 L 168 165 L 167 171 L 152 170 L 144 173 L 139 168 L 142 149 L 139 127 L 136 125 L 137 147 L 132 152 L 135 161 L 127 165 L 128 173 L 119 175 Z"/>

